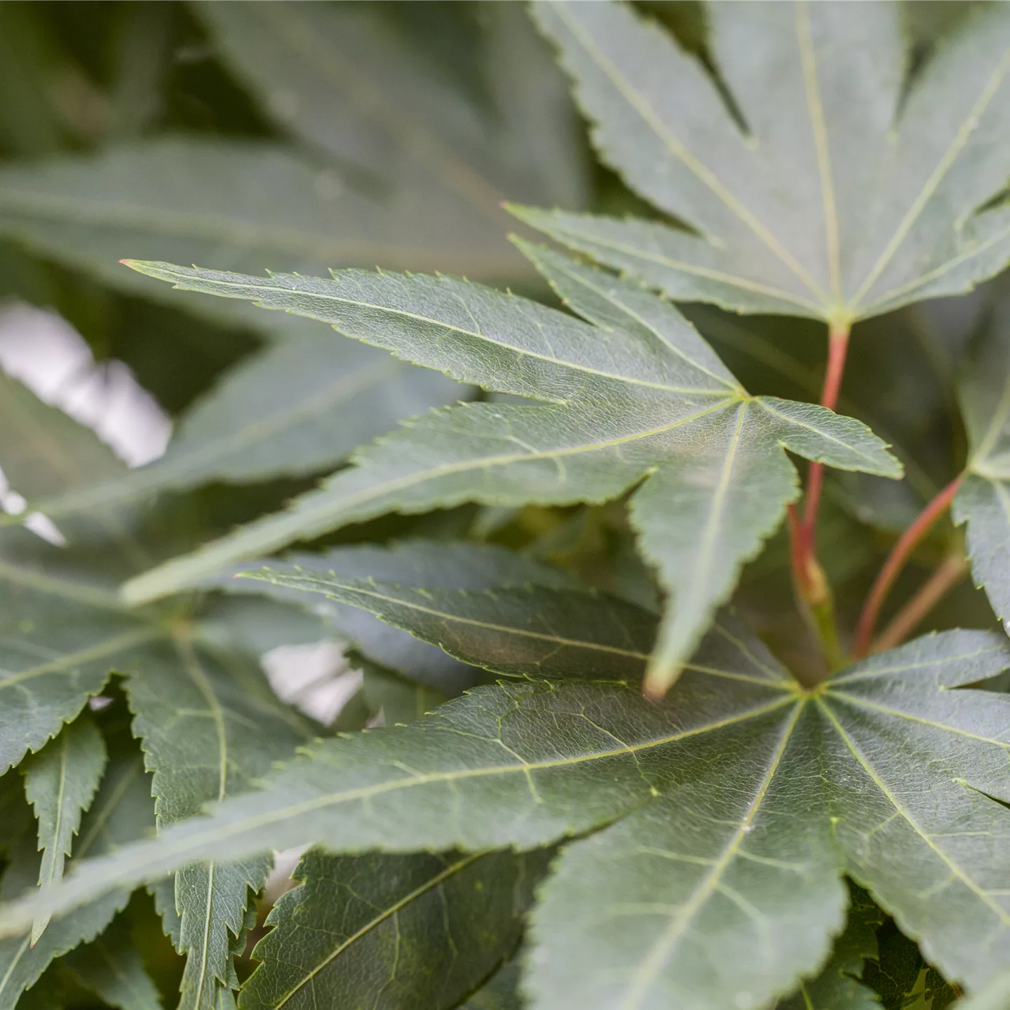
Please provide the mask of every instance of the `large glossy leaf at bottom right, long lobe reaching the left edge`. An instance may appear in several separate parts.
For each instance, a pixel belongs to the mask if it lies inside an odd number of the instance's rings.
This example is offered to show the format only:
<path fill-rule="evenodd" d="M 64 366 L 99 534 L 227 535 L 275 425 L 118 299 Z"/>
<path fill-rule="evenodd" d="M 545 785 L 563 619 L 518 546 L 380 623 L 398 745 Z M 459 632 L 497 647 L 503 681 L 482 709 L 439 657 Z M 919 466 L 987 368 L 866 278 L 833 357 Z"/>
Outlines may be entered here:
<path fill-rule="evenodd" d="M 1010 664 L 1005 640 L 930 635 L 813 694 L 739 627 L 711 647 L 662 704 L 622 685 L 502 684 L 322 741 L 263 792 L 6 906 L 0 928 L 267 845 L 478 852 L 584 835 L 539 891 L 534 1007 L 762 1006 L 827 955 L 843 872 L 947 978 L 988 982 L 1010 947 L 1008 702 L 964 685 Z"/>

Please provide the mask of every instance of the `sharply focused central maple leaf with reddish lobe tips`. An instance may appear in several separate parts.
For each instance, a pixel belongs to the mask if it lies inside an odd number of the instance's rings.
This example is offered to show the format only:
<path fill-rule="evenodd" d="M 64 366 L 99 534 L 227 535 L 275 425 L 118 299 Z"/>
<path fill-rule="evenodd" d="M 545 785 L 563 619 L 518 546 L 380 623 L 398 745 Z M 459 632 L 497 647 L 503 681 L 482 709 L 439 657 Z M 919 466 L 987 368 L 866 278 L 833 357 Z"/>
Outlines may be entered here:
<path fill-rule="evenodd" d="M 798 493 L 782 448 L 842 469 L 901 473 L 857 421 L 747 396 L 673 306 L 547 249 L 526 251 L 595 325 L 447 278 L 260 279 L 132 264 L 179 287 L 328 321 L 458 380 L 547 403 L 464 405 L 419 418 L 287 512 L 133 580 L 126 597 L 165 595 L 241 558 L 394 510 L 603 502 L 640 484 L 632 521 L 674 597 L 648 677 L 662 693 Z"/>

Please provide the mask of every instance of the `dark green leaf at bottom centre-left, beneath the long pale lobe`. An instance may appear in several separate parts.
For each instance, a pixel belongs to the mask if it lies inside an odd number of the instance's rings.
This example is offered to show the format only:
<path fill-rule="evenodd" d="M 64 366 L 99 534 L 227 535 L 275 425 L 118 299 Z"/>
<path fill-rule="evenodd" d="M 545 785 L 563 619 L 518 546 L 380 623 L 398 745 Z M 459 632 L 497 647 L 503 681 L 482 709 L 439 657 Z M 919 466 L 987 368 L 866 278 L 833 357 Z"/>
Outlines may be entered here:
<path fill-rule="evenodd" d="M 541 853 L 326 855 L 267 920 L 242 1010 L 448 1010 L 515 945 Z"/>

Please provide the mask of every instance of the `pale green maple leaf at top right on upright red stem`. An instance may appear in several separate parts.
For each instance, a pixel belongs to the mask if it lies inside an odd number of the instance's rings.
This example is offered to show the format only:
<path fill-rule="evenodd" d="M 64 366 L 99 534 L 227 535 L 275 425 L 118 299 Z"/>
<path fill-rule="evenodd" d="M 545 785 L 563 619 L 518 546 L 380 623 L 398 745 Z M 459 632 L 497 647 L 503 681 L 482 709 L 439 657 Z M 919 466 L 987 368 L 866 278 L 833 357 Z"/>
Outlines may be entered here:
<path fill-rule="evenodd" d="M 965 18 L 907 89 L 893 0 L 709 0 L 720 84 L 620 0 L 533 10 L 601 157 L 695 229 L 518 208 L 559 240 L 674 298 L 842 325 L 1010 258 L 989 206 L 1010 174 L 1004 5 Z"/>

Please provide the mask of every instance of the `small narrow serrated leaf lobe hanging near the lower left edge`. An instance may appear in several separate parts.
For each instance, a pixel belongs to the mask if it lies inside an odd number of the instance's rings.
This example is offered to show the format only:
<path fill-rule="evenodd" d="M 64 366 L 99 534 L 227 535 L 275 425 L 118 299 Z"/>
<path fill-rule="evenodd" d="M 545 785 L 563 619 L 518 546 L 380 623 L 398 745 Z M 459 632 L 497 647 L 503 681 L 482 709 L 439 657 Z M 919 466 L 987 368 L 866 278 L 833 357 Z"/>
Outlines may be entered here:
<path fill-rule="evenodd" d="M 94 799 L 107 759 L 102 734 L 91 719 L 80 715 L 25 762 L 24 793 L 35 811 L 42 851 L 39 887 L 50 887 L 63 877 L 81 815 Z M 45 925 L 40 919 L 32 926 L 32 943 L 38 942 Z"/>

